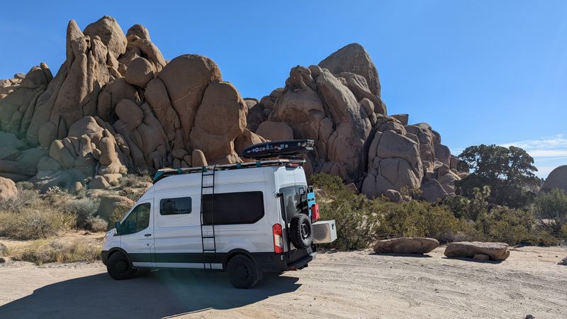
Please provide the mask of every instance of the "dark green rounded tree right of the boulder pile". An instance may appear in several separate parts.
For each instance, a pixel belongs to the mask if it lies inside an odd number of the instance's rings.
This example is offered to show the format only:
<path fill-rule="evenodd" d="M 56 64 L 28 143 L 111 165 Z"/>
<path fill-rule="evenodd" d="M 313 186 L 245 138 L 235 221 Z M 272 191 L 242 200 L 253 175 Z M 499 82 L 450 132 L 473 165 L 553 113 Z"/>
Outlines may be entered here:
<path fill-rule="evenodd" d="M 520 147 L 476 145 L 459 155 L 460 169 L 468 169 L 466 179 L 456 182 L 456 193 L 475 197 L 474 189 L 490 186 L 488 202 L 522 207 L 535 197 L 540 180 L 535 176 L 534 159 Z"/>

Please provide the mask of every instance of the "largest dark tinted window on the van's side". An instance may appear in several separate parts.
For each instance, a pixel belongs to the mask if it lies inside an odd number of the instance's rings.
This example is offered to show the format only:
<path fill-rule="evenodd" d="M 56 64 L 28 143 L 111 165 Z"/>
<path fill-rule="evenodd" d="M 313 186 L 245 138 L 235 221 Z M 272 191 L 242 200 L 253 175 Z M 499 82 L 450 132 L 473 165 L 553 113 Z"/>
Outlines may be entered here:
<path fill-rule="evenodd" d="M 262 191 L 203 195 L 203 225 L 253 224 L 264 217 Z M 211 206 L 214 214 L 211 214 Z"/>

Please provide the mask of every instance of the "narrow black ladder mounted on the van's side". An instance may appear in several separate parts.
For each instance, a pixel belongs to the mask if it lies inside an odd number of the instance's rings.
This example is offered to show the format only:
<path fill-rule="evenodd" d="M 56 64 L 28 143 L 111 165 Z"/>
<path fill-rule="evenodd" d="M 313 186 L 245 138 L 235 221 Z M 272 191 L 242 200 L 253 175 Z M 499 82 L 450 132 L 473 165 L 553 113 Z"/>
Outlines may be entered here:
<path fill-rule="evenodd" d="M 217 242 L 215 237 L 215 172 L 216 165 L 213 167 L 213 171 L 208 171 L 206 167 L 201 170 L 201 247 L 203 248 L 203 269 L 213 269 L 213 262 L 217 256 Z M 212 177 L 211 184 L 205 184 L 205 178 Z M 203 190 L 210 189 L 210 226 L 213 228 L 213 235 L 205 235 L 203 231 L 203 226 L 205 223 L 205 206 L 204 206 L 204 195 Z M 210 232 L 209 232 L 210 233 Z M 213 247 L 210 248 L 210 240 L 213 241 Z M 205 242 L 208 242 L 208 246 L 205 247 Z M 207 268 L 208 264 L 208 268 Z"/>

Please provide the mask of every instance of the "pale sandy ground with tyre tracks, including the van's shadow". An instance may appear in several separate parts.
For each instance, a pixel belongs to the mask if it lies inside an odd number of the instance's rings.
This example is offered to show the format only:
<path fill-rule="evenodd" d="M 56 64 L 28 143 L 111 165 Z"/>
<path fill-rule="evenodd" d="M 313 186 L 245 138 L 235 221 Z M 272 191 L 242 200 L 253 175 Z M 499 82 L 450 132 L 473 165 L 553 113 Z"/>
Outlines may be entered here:
<path fill-rule="evenodd" d="M 0 318 L 567 318 L 567 247 L 505 262 L 370 250 L 320 253 L 307 269 L 233 289 L 224 273 L 155 271 L 114 281 L 93 264 L 0 264 Z"/>

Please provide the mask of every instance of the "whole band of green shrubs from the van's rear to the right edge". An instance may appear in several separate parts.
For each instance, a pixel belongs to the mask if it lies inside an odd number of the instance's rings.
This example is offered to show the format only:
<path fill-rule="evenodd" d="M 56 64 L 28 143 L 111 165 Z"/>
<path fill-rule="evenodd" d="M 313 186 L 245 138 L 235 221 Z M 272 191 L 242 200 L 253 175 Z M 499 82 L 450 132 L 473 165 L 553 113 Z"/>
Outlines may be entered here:
<path fill-rule="evenodd" d="M 545 208 L 556 214 L 543 227 L 529 206 L 490 207 L 488 186 L 474 189 L 472 198 L 449 196 L 443 204 L 432 204 L 415 200 L 393 203 L 383 197 L 368 199 L 347 189 L 339 177 L 327 174 L 314 174 L 310 182 L 317 188 L 322 218 L 337 222 L 338 238 L 330 245 L 337 249 L 365 248 L 388 237 L 432 237 L 441 243 L 483 240 L 549 246 L 556 245 L 557 238 L 567 236 L 567 225 L 554 222 L 561 220 L 555 207 L 563 207 L 563 197 L 558 194 L 537 200 L 543 203 L 536 203 L 540 205 L 534 208 L 536 211 Z M 553 217 L 550 213 L 540 214 Z M 550 224 L 555 228 L 549 228 Z"/>

